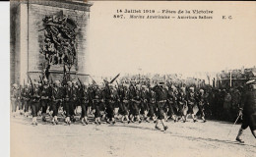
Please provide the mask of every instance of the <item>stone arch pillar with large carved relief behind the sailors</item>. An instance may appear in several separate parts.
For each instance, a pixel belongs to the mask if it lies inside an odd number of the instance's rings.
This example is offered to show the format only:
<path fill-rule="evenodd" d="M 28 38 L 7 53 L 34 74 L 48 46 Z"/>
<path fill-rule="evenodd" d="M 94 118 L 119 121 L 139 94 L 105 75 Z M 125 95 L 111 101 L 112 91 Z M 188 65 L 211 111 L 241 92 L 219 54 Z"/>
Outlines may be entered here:
<path fill-rule="evenodd" d="M 92 4 L 74 0 L 11 2 L 11 83 L 39 78 L 86 80 Z"/>

